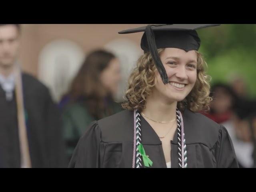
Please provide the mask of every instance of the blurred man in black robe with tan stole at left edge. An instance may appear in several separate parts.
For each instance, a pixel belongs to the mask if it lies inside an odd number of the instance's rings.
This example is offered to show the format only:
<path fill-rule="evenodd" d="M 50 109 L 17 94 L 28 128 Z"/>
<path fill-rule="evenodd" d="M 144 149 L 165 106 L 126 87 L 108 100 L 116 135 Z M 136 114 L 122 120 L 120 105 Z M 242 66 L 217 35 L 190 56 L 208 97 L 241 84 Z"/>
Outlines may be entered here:
<path fill-rule="evenodd" d="M 61 118 L 48 89 L 21 72 L 20 24 L 0 24 L 0 167 L 63 167 Z"/>

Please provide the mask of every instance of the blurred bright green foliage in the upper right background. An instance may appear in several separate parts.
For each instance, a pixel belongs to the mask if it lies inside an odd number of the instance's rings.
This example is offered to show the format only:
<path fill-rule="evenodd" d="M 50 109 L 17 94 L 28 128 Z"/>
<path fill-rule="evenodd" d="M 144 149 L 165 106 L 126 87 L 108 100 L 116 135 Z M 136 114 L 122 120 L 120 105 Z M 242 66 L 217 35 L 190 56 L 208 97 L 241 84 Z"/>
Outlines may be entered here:
<path fill-rule="evenodd" d="M 232 74 L 239 74 L 250 96 L 256 97 L 256 24 L 222 24 L 198 34 L 212 83 L 228 82 Z"/>

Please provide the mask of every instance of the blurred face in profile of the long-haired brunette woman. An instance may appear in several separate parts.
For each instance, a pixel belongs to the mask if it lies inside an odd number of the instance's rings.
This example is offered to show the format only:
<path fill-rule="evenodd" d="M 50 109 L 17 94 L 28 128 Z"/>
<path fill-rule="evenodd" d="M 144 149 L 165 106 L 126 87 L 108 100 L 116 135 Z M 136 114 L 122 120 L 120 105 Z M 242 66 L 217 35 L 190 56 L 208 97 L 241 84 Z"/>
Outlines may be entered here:
<path fill-rule="evenodd" d="M 115 95 L 120 79 L 120 63 L 117 58 L 114 58 L 110 60 L 108 67 L 100 74 L 100 81 L 103 86 L 112 93 L 112 95 Z"/>

